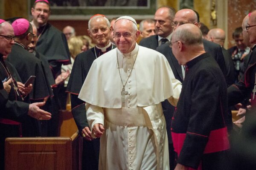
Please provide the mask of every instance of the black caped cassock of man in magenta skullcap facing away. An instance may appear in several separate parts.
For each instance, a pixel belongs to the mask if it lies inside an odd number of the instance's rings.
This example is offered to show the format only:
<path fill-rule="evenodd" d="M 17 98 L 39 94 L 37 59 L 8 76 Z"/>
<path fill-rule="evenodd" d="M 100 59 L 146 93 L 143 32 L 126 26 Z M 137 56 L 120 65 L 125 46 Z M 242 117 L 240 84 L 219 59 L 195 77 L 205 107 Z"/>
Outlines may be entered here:
<path fill-rule="evenodd" d="M 30 76 L 36 76 L 33 89 L 25 98 L 25 102 L 42 102 L 44 98 L 52 96 L 52 91 L 45 77 L 41 61 L 26 51 L 22 45 L 15 43 L 7 60 L 18 71 L 22 83 L 25 83 Z M 41 136 L 41 121 L 29 118 L 28 123 L 22 126 L 23 136 Z"/>

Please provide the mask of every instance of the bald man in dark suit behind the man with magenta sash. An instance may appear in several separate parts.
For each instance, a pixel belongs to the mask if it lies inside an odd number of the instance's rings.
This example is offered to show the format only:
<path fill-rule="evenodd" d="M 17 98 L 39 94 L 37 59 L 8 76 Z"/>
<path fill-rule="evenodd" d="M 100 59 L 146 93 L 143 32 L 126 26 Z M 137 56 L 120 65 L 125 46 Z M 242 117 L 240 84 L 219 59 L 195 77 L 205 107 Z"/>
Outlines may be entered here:
<path fill-rule="evenodd" d="M 195 11 L 191 9 L 182 9 L 180 11 L 177 11 L 174 17 L 174 21 L 175 21 L 173 22 L 173 26 L 175 26 L 174 28 L 177 28 L 182 23 L 193 23 L 199 27 L 197 15 Z M 224 57 L 223 57 L 220 45 L 217 45 L 207 40 L 203 40 L 203 44 L 204 44 L 205 50 L 208 51 L 212 55 L 212 57 L 214 57 L 214 59 L 218 62 L 220 68 L 222 68 L 221 70 L 226 75 L 226 66 L 225 66 Z M 177 62 L 177 59 L 172 54 L 172 48 L 169 47 L 169 44 L 163 44 L 157 47 L 157 51 L 159 51 L 166 57 L 166 59 L 168 60 L 172 68 L 175 78 L 178 79 L 180 82 L 183 82 L 183 79 L 185 77 L 184 66 L 179 65 L 179 63 Z M 166 116 L 166 125 L 167 125 L 166 128 L 167 128 L 168 134 L 170 134 L 171 120 L 172 120 L 172 115 L 174 113 L 175 108 L 172 105 L 170 105 L 167 100 L 162 102 L 162 106 L 163 106 L 163 113 Z M 169 137 L 169 149 L 170 149 L 169 158 L 170 158 L 170 164 L 171 164 L 171 162 L 173 162 L 172 160 L 175 159 L 174 158 L 175 153 L 172 149 L 173 146 L 172 146 L 171 135 L 169 135 L 168 137 Z"/>

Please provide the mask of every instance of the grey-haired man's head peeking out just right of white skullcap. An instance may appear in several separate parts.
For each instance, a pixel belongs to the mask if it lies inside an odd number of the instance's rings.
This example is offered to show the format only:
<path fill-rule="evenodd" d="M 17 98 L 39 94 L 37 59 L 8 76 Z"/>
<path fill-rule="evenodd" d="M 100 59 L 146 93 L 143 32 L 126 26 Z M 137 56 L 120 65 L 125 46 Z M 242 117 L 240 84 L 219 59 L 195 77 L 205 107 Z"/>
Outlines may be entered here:
<path fill-rule="evenodd" d="M 154 20 L 146 19 L 140 22 L 140 37 L 146 38 L 155 35 Z"/>

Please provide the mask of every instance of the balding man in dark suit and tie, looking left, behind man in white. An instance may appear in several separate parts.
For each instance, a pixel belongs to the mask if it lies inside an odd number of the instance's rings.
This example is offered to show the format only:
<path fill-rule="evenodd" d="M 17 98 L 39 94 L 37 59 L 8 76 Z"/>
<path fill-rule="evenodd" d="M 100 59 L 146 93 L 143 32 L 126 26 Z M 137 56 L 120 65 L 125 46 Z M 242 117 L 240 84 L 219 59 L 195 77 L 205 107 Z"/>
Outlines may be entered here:
<path fill-rule="evenodd" d="M 157 9 L 154 15 L 154 25 L 156 35 L 144 38 L 140 41 L 141 46 L 155 50 L 158 46 L 171 41 L 173 27 L 172 20 L 175 15 L 175 9 L 169 6 L 163 6 Z"/>

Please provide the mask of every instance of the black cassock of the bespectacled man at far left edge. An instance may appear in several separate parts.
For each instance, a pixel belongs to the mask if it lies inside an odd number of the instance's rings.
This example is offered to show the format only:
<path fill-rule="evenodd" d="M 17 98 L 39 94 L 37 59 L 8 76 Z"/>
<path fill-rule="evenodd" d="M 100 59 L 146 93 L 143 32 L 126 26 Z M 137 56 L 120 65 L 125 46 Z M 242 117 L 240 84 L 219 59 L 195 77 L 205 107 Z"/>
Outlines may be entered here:
<path fill-rule="evenodd" d="M 6 78 L 13 78 L 9 94 L 3 89 Z M 0 54 L 0 169 L 4 169 L 4 141 L 6 137 L 19 137 L 21 133 L 20 122 L 26 123 L 29 116 L 29 104 L 22 102 L 20 93 L 15 91 L 16 82 L 20 81 L 16 69 Z"/>

